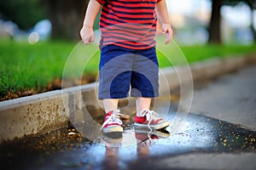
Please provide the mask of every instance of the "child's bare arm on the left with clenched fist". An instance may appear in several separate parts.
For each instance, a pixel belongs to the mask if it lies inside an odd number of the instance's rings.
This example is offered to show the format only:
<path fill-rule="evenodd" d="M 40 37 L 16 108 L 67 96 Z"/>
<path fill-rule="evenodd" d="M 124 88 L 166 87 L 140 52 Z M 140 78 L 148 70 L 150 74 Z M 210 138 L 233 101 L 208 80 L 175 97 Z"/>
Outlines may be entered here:
<path fill-rule="evenodd" d="M 84 17 L 84 25 L 80 31 L 80 36 L 86 45 L 94 42 L 93 25 L 101 8 L 102 5 L 96 2 L 96 0 L 90 0 Z"/>

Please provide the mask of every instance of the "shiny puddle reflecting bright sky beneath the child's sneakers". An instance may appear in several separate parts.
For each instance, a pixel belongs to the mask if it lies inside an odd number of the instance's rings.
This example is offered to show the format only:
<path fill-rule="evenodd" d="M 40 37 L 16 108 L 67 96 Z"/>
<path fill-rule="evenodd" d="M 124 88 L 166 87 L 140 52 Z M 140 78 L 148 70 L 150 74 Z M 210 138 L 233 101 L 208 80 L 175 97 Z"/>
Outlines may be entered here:
<path fill-rule="evenodd" d="M 169 131 L 170 127 L 162 133 L 137 132 L 131 127 L 125 129 L 123 138 L 115 140 L 114 144 L 111 140 L 96 141 L 98 144 L 87 151 L 94 153 L 90 159 L 101 157 L 97 163 L 102 166 L 124 168 L 140 163 L 143 158 L 154 161 L 157 157 L 199 152 L 237 153 L 253 151 L 256 146 L 255 132 L 207 116 L 189 114 L 177 133 L 170 135 Z M 129 144 L 133 141 L 133 145 L 125 144 L 125 140 L 129 140 Z"/>

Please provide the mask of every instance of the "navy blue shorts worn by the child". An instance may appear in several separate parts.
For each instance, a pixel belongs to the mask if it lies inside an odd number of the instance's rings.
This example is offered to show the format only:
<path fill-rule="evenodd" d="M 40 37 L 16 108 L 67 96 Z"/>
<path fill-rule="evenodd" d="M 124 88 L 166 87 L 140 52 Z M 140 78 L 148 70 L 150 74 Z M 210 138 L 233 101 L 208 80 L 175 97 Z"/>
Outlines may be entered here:
<path fill-rule="evenodd" d="M 159 65 L 155 48 L 129 49 L 108 45 L 101 49 L 99 99 L 157 97 Z"/>

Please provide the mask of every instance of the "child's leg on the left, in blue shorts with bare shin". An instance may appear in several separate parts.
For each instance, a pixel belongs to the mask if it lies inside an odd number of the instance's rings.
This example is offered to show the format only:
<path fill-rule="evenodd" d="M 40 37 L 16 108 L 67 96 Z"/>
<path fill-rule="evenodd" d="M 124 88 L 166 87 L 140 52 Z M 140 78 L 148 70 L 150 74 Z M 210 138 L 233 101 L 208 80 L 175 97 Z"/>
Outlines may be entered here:
<path fill-rule="evenodd" d="M 119 99 L 128 96 L 133 56 L 131 50 L 119 46 L 102 48 L 98 97 L 107 113 L 117 110 Z"/>

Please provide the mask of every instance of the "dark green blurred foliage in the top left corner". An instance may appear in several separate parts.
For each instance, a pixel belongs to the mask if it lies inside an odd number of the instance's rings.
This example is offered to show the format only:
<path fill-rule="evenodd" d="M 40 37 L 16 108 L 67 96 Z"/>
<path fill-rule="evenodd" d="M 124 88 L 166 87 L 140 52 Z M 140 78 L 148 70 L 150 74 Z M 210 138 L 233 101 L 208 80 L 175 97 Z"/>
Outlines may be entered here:
<path fill-rule="evenodd" d="M 23 30 L 44 19 L 38 0 L 0 0 L 0 13 L 5 20 L 12 20 Z"/>

